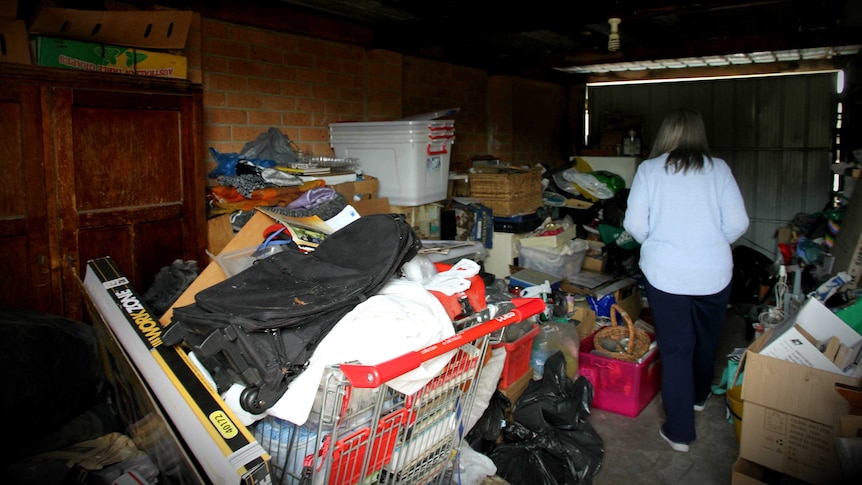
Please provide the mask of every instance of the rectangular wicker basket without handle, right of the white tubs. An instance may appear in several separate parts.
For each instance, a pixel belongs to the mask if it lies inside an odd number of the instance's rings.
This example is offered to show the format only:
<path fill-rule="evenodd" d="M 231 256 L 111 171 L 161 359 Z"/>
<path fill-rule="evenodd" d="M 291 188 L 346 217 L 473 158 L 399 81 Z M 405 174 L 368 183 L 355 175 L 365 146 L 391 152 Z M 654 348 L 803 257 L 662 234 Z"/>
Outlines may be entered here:
<path fill-rule="evenodd" d="M 541 169 L 482 167 L 470 174 L 470 197 L 494 211 L 494 216 L 531 214 L 542 207 Z"/>

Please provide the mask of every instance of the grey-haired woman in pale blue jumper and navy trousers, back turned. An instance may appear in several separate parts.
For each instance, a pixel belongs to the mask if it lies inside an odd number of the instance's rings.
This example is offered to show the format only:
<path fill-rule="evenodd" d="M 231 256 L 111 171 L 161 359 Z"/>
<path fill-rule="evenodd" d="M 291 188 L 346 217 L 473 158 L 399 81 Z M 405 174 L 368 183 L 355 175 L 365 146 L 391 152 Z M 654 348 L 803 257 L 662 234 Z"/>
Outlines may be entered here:
<path fill-rule="evenodd" d="M 700 114 L 679 109 L 638 166 L 623 223 L 641 244 L 640 268 L 662 359 L 662 438 L 694 441 L 694 412 L 710 396 L 715 352 L 730 298 L 730 245 L 748 214 L 730 168 L 710 156 Z"/>

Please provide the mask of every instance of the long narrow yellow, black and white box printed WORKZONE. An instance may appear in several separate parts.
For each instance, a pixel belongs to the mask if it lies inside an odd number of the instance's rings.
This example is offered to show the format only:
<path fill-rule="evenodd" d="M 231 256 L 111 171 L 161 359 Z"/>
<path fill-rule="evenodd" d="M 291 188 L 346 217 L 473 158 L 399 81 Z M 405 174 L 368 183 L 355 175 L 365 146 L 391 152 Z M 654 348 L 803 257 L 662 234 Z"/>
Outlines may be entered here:
<path fill-rule="evenodd" d="M 110 257 L 88 262 L 84 289 L 209 481 L 270 483 L 269 454 L 185 351 L 162 343 L 162 325 Z"/>

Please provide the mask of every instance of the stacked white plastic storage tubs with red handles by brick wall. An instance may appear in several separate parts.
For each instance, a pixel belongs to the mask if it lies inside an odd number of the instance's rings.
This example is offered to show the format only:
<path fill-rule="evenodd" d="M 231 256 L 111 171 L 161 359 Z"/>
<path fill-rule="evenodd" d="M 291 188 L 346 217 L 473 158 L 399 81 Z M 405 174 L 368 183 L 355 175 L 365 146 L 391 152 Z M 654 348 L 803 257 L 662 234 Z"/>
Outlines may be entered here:
<path fill-rule="evenodd" d="M 333 123 L 329 144 L 339 158 L 356 158 L 380 182 L 392 205 L 417 206 L 446 198 L 455 141 L 451 120 Z"/>

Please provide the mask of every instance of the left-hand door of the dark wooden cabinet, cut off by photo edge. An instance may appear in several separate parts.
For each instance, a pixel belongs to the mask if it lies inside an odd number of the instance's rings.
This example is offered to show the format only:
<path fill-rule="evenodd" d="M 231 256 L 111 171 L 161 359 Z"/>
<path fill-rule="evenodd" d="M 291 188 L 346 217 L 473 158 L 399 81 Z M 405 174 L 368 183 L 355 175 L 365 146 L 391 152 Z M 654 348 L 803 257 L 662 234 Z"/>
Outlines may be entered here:
<path fill-rule="evenodd" d="M 0 305 L 62 314 L 40 109 L 37 86 L 0 82 Z"/>

